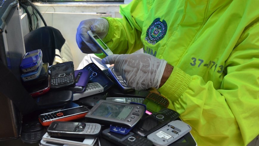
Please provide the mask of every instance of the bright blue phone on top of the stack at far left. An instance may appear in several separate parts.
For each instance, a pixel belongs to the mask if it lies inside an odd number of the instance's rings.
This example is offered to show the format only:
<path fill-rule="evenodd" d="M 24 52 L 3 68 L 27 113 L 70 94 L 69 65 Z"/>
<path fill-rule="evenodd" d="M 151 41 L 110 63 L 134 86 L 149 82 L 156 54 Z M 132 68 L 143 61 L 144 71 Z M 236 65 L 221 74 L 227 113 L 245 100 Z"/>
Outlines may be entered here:
<path fill-rule="evenodd" d="M 40 66 L 41 60 L 41 49 L 27 52 L 21 60 L 20 69 L 24 73 L 36 70 Z"/>

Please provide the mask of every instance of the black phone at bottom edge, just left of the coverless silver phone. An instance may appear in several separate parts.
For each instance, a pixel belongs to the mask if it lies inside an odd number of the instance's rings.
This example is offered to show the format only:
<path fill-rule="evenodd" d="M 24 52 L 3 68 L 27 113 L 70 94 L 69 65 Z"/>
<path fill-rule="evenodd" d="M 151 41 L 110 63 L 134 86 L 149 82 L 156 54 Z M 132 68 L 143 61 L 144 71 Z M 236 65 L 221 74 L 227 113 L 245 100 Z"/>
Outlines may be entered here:
<path fill-rule="evenodd" d="M 116 145 L 123 145 L 123 146 L 135 146 L 135 145 L 141 145 L 141 146 L 152 146 L 153 142 L 150 140 L 139 136 L 133 132 L 129 132 L 128 134 L 120 134 L 111 132 L 110 128 L 105 129 L 102 131 L 102 136 L 104 139 L 107 139 L 110 142 L 115 143 Z"/>

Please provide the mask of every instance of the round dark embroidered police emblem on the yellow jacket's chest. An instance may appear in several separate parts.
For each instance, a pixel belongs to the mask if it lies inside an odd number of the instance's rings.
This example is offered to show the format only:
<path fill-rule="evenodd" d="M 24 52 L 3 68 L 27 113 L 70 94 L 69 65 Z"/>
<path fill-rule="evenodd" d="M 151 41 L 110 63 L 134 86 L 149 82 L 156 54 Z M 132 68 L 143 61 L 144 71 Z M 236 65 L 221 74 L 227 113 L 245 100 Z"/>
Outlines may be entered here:
<path fill-rule="evenodd" d="M 166 21 L 160 21 L 160 18 L 156 18 L 152 24 L 146 30 L 145 40 L 152 45 L 162 40 L 166 35 L 167 24 Z"/>

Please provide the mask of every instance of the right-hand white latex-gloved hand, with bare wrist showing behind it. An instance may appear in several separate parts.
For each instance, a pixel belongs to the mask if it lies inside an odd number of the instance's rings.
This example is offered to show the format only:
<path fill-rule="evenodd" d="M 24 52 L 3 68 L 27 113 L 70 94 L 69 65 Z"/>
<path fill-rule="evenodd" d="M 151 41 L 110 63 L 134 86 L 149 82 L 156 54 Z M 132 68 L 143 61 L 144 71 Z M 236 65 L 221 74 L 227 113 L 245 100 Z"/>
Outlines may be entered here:
<path fill-rule="evenodd" d="M 127 85 L 136 90 L 158 88 L 166 67 L 166 60 L 145 53 L 109 55 L 102 59 L 104 64 L 114 64 Z"/>

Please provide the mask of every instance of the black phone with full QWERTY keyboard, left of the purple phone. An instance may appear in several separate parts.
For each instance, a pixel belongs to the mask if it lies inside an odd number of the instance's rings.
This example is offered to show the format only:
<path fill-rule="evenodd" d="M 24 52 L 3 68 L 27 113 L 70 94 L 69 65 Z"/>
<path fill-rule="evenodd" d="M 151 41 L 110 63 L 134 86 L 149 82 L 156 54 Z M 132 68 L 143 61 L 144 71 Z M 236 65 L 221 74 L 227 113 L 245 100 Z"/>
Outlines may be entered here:
<path fill-rule="evenodd" d="M 68 88 L 76 84 L 74 64 L 72 61 L 52 65 L 50 67 L 50 88 Z"/>

